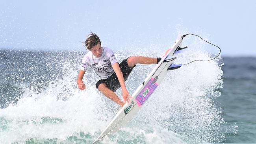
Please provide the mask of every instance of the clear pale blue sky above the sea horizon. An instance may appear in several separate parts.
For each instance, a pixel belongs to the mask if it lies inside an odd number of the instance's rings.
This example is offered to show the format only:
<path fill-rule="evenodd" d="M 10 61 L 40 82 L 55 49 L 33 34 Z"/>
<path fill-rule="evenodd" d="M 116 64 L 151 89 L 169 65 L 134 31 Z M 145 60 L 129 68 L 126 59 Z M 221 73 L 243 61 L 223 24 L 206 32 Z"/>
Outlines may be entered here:
<path fill-rule="evenodd" d="M 0 50 L 84 50 L 93 31 L 113 49 L 169 48 L 195 33 L 223 56 L 256 56 L 255 0 L 0 0 Z"/>

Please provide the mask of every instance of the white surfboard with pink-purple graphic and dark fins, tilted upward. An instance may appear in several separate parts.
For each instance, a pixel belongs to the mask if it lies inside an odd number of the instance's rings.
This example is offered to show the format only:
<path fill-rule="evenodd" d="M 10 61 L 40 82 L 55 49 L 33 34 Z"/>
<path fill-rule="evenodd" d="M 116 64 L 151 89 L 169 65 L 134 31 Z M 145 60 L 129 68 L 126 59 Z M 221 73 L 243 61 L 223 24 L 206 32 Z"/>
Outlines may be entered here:
<path fill-rule="evenodd" d="M 106 129 L 100 134 L 97 140 L 93 142 L 93 144 L 102 141 L 106 135 L 115 133 L 121 128 L 121 126 L 131 120 L 132 117 L 142 107 L 142 105 L 147 101 L 148 97 L 150 97 L 154 90 L 163 81 L 163 78 L 167 74 L 167 70 L 180 68 L 181 64 L 174 65 L 173 62 L 176 59 L 175 55 L 181 52 L 183 49 L 187 48 L 180 47 L 182 44 L 182 39 L 183 37 L 176 40 L 175 44 L 165 52 L 165 55 L 162 57 L 158 65 L 154 67 L 154 69 L 150 72 L 150 74 L 148 74 L 143 83 L 132 94 L 131 102 L 126 103 L 122 109 L 119 110 L 117 115 L 109 123 Z"/>

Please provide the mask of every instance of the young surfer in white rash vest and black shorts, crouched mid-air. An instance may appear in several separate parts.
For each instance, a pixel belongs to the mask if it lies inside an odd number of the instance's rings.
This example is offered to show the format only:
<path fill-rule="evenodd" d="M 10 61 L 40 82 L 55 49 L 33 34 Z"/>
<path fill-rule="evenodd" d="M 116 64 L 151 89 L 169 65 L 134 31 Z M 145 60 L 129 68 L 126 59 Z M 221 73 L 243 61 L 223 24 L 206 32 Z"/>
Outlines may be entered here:
<path fill-rule="evenodd" d="M 96 83 L 96 88 L 121 107 L 124 103 L 130 102 L 130 98 L 132 98 L 126 89 L 124 81 L 126 81 L 136 64 L 157 64 L 161 60 L 161 58 L 131 56 L 119 64 L 113 51 L 110 48 L 102 47 L 100 38 L 93 32 L 85 40 L 85 46 L 89 52 L 82 59 L 77 78 L 78 88 L 80 90 L 85 89 L 82 79 L 87 68 L 90 66 L 101 78 Z M 124 102 L 115 94 L 115 91 L 120 87 Z"/>

